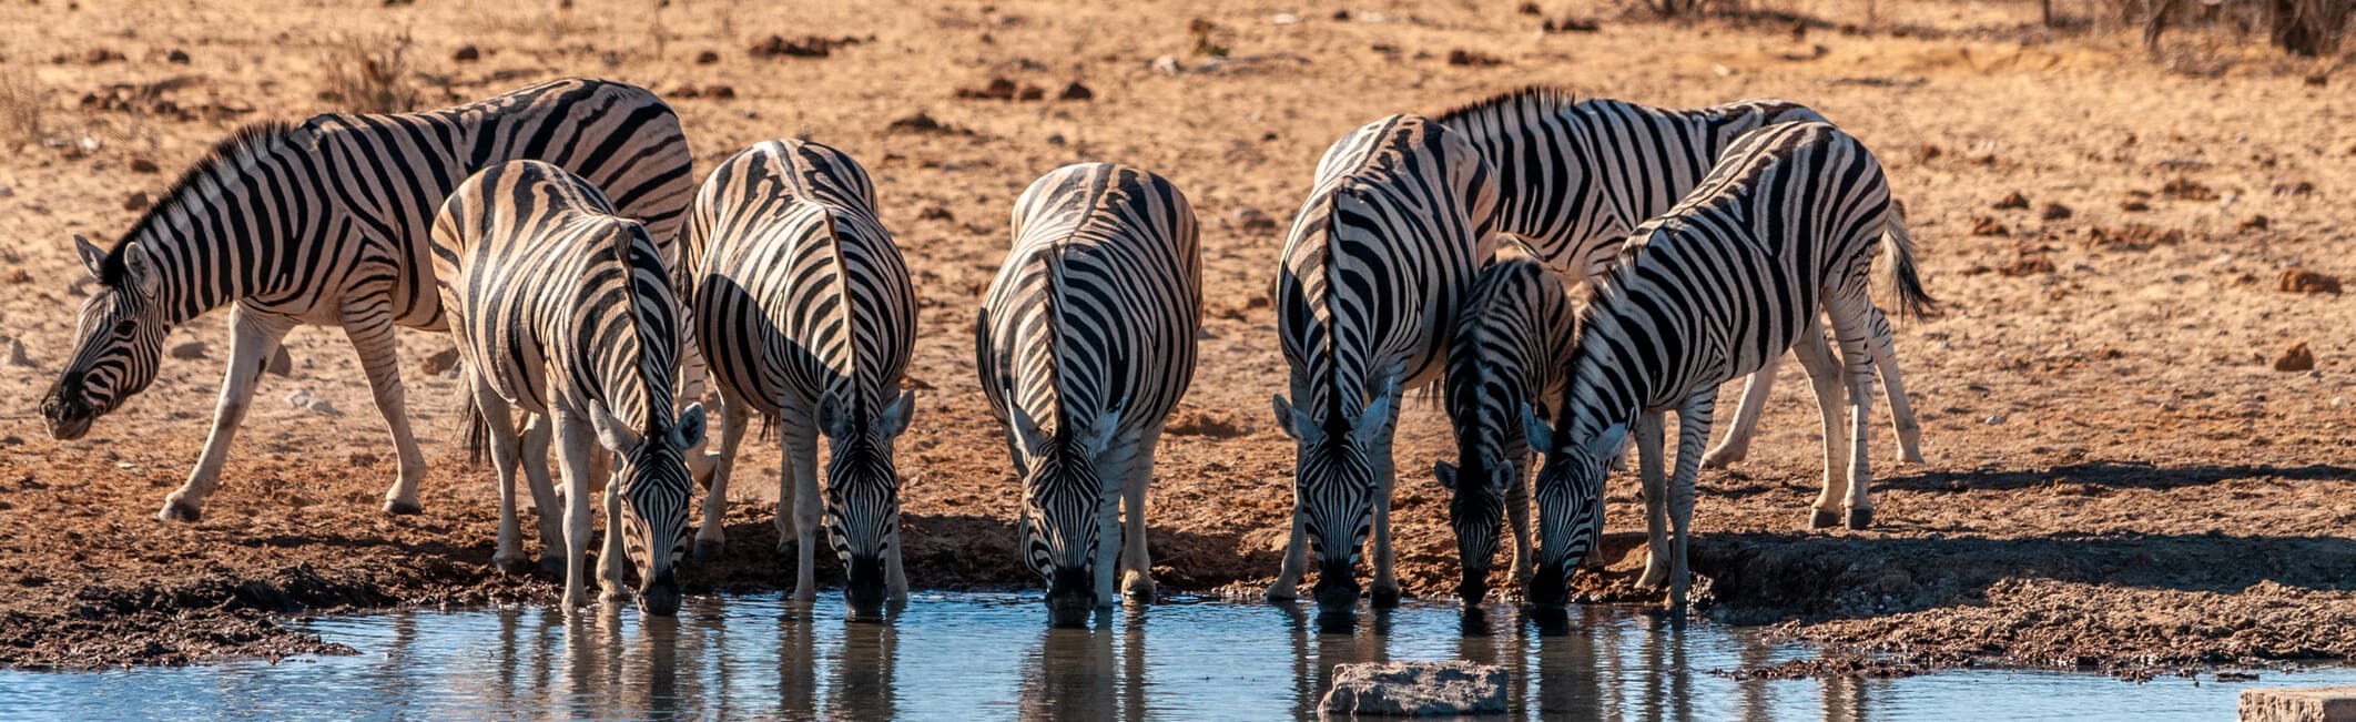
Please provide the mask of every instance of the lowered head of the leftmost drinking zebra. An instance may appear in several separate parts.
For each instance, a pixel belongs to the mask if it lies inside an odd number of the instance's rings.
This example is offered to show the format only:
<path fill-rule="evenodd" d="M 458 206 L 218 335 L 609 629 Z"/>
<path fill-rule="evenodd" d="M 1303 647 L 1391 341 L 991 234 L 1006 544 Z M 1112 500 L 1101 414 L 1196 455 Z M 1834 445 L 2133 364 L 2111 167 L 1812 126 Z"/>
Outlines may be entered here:
<path fill-rule="evenodd" d="M 669 408 L 669 403 L 655 403 Z M 596 439 L 620 458 L 608 479 L 608 493 L 620 491 L 622 547 L 629 564 L 638 569 L 638 606 L 646 613 L 679 613 L 679 557 L 688 550 L 688 507 L 695 481 L 688 477 L 686 453 L 704 441 L 704 406 L 690 403 L 676 420 L 653 411 L 648 432 L 634 432 L 629 422 L 605 411 L 605 403 L 589 401 L 589 420 Z M 613 533 L 608 529 L 608 533 Z"/>

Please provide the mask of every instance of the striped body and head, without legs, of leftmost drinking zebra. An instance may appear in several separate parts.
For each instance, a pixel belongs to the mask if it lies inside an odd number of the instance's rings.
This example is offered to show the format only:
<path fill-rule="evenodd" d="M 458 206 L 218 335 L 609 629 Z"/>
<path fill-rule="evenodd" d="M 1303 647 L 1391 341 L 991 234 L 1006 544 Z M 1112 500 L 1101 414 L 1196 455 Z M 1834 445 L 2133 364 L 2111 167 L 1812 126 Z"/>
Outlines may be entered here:
<path fill-rule="evenodd" d="M 601 408 L 627 427 L 624 441 L 605 441 L 624 500 L 608 524 L 643 580 L 669 583 L 688 533 L 683 453 L 702 437 L 702 411 L 671 411 L 683 314 L 646 224 L 563 168 L 511 160 L 450 193 L 431 243 L 469 373 L 528 413 Z"/>

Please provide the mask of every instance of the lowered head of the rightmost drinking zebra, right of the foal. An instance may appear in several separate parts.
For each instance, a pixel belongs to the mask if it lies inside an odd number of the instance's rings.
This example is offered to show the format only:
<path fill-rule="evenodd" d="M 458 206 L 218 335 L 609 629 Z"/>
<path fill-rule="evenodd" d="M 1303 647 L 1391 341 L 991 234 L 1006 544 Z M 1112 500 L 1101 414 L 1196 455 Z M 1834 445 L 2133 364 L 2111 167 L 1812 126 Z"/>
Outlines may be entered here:
<path fill-rule="evenodd" d="M 1553 609 L 1569 599 L 1571 573 L 1602 536 L 1604 474 L 1628 441 L 1628 425 L 1612 425 L 1588 439 L 1557 434 L 1536 411 L 1527 411 L 1522 425 L 1529 448 L 1546 448 L 1531 493 L 1538 505 L 1538 569 L 1524 595 L 1531 606 Z"/>

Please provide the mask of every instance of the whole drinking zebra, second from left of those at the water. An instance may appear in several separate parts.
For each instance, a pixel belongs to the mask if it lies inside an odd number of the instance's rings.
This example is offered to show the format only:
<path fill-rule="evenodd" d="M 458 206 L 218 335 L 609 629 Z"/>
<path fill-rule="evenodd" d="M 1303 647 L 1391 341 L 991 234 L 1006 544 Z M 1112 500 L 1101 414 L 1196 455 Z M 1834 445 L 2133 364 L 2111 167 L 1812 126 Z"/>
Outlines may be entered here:
<path fill-rule="evenodd" d="M 848 571 L 853 616 L 905 604 L 900 472 L 893 441 L 914 389 L 916 295 L 876 219 L 858 160 L 815 142 L 754 144 L 712 172 L 688 212 L 697 335 L 721 392 L 721 453 L 704 495 L 697 557 L 723 543 L 728 474 L 754 413 L 782 422 L 777 538 L 796 547 L 794 599 L 818 597 L 818 434 L 829 441 L 827 543 Z M 787 514 L 792 510 L 792 517 Z"/>

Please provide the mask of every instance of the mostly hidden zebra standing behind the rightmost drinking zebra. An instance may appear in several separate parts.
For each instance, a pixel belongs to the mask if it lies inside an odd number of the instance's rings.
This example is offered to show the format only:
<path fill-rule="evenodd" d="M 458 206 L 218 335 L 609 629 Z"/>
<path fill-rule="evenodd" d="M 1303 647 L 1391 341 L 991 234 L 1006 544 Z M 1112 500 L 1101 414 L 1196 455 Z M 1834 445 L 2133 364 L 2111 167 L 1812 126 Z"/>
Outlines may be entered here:
<path fill-rule="evenodd" d="M 1498 175 L 1498 231 L 1527 238 L 1557 271 L 1593 278 L 1621 238 L 1661 215 L 1703 175 L 1727 144 L 1748 130 L 1819 120 L 1816 111 L 1779 99 L 1748 99 L 1673 111 L 1619 99 L 1576 99 L 1569 90 L 1522 87 L 1440 116 L 1482 149 Z M 1873 363 L 1890 394 L 1899 460 L 1922 462 L 1922 427 L 1899 380 L 1890 321 L 1871 311 Z M 1743 460 L 1781 359 L 1767 361 L 1743 387 L 1727 439 L 1703 455 L 1703 467 Z M 1831 526 L 1812 517 L 1812 526 Z M 1494 526 L 1494 524 L 1491 524 Z"/>

